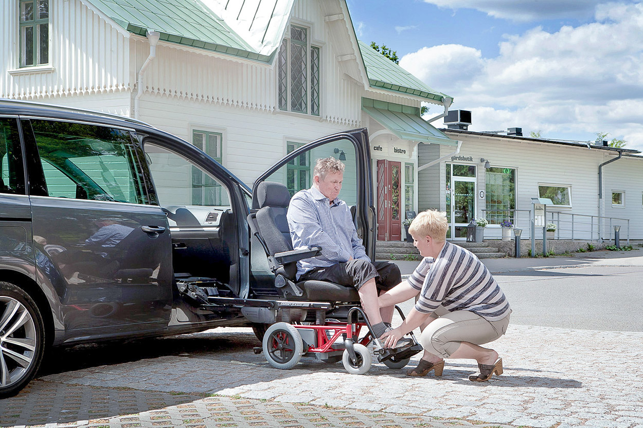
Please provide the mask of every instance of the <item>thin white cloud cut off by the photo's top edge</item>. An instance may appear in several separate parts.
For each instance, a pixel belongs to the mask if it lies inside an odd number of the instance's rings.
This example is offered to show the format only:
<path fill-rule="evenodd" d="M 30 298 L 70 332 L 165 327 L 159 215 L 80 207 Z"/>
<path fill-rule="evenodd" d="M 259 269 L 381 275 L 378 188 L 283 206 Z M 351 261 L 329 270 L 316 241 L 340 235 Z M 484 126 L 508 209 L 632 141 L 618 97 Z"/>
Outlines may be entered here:
<path fill-rule="evenodd" d="M 536 21 L 538 19 L 575 18 L 586 19 L 593 15 L 594 8 L 605 0 L 424 0 L 440 8 L 457 10 L 476 9 L 489 16 L 513 21 Z"/>

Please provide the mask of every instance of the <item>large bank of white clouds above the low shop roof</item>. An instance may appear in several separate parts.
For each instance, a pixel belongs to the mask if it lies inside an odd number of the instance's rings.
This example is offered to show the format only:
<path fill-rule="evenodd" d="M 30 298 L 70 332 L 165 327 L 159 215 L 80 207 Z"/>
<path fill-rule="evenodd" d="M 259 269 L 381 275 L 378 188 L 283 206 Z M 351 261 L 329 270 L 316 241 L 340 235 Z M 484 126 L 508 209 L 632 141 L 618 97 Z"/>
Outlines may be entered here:
<path fill-rule="evenodd" d="M 404 55 L 400 65 L 453 96 L 452 108 L 471 110 L 470 130 L 579 139 L 610 132 L 643 150 L 641 28 L 643 4 L 613 3 L 597 6 L 590 24 L 507 35 L 494 58 L 451 44 Z"/>

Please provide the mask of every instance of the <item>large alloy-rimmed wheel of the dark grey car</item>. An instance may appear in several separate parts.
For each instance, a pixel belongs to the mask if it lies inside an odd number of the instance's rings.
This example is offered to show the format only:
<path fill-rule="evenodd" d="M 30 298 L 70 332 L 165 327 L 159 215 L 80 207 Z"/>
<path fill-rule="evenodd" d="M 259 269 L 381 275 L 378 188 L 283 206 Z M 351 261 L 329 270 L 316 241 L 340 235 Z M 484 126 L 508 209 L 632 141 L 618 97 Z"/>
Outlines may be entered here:
<path fill-rule="evenodd" d="M 19 393 L 33 379 L 44 353 L 44 323 L 23 289 L 0 281 L 0 398 Z"/>

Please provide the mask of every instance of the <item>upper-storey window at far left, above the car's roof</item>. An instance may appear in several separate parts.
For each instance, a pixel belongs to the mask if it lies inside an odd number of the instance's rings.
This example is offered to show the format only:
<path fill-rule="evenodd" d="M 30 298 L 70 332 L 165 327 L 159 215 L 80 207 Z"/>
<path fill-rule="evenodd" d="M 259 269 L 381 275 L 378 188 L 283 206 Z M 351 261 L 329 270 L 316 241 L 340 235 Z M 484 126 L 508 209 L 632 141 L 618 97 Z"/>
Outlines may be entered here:
<path fill-rule="evenodd" d="M 49 63 L 49 0 L 21 0 L 20 66 Z"/>

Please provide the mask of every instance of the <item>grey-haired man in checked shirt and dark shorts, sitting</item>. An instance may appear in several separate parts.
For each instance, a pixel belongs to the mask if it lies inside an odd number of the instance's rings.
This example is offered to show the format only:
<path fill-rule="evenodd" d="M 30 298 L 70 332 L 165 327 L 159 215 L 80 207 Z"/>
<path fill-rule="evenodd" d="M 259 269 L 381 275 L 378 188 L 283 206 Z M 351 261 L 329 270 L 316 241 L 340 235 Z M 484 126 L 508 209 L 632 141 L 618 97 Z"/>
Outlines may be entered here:
<path fill-rule="evenodd" d="M 355 287 L 372 333 L 379 338 L 390 330 L 383 320 L 390 323 L 395 306 L 380 309 L 377 296 L 401 283 L 402 276 L 395 263 L 368 258 L 349 206 L 338 197 L 344 169 L 334 157 L 317 159 L 312 187 L 300 190 L 290 201 L 287 220 L 293 248 L 321 247 L 319 256 L 297 262 L 297 280 Z"/>

